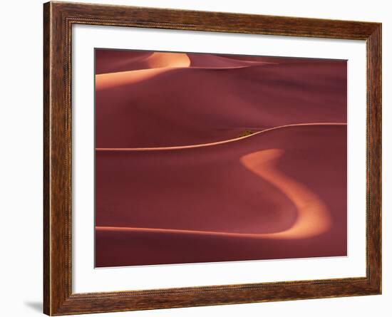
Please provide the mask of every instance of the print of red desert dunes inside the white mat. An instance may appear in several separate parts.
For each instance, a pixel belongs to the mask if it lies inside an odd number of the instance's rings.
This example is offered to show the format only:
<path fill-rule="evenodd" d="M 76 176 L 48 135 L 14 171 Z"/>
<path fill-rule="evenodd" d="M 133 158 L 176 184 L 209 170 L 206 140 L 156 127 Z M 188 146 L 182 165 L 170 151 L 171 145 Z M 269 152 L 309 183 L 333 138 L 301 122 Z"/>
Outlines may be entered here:
<path fill-rule="evenodd" d="M 345 60 L 95 63 L 96 267 L 347 255 Z"/>

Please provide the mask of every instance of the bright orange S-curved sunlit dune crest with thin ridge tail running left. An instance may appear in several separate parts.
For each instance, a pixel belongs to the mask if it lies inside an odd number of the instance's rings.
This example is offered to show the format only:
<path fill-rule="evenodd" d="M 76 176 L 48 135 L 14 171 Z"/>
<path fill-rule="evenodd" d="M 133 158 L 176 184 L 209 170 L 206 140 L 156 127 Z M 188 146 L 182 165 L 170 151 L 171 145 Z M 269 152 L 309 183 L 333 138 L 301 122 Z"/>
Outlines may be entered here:
<path fill-rule="evenodd" d="M 264 180 L 271 182 L 272 185 L 280 189 L 292 200 L 297 208 L 298 216 L 294 225 L 287 230 L 269 234 L 104 226 L 98 226 L 96 230 L 100 232 L 157 232 L 163 234 L 198 234 L 257 239 L 306 239 L 323 234 L 331 227 L 328 209 L 316 194 L 277 170 L 276 163 L 283 152 L 277 149 L 253 152 L 241 157 L 240 162 L 248 170 L 264 178 Z"/>

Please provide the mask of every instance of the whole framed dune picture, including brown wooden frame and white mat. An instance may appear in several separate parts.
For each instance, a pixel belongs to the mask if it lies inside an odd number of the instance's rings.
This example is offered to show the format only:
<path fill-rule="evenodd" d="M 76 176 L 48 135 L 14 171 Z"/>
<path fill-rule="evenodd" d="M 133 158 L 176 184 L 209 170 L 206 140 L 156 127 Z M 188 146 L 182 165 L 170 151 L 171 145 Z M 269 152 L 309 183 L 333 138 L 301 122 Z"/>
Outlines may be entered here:
<path fill-rule="evenodd" d="M 43 19 L 44 313 L 381 293 L 381 24 Z"/>

